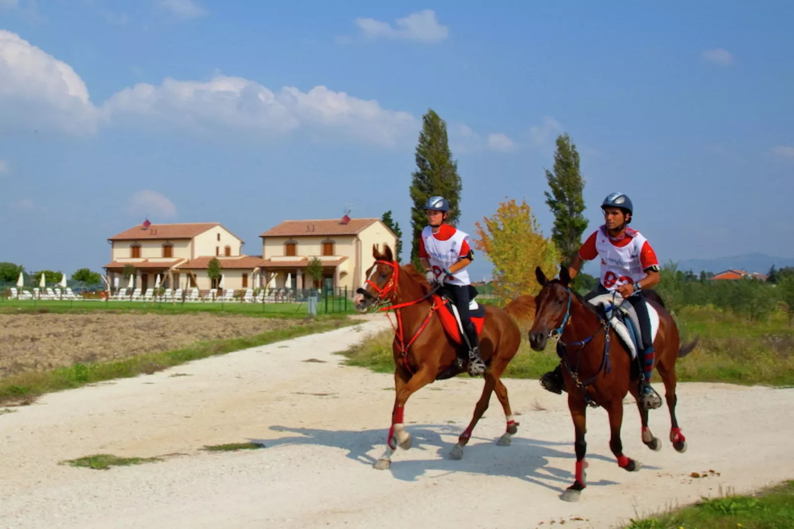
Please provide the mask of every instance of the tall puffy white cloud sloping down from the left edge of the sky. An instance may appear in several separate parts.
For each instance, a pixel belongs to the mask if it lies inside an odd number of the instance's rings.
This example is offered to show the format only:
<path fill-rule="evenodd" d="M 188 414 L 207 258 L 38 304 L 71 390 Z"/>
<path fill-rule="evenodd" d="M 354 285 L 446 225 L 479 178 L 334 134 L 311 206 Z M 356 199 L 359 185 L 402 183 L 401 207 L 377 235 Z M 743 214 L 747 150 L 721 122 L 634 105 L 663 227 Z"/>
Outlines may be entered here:
<path fill-rule="evenodd" d="M 0 29 L 0 131 L 93 133 L 100 113 L 68 64 Z"/>

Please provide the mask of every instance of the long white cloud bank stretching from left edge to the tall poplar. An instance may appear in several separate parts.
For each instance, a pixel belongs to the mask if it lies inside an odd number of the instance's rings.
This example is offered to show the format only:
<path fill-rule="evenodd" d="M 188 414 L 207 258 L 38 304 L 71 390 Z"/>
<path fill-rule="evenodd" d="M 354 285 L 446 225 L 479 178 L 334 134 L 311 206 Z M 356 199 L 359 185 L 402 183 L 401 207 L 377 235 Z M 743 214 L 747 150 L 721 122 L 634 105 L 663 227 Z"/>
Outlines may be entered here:
<path fill-rule="evenodd" d="M 138 83 L 94 106 L 83 79 L 68 64 L 18 35 L 0 30 L 0 133 L 57 130 L 94 133 L 99 125 L 182 127 L 207 135 L 242 132 L 258 140 L 303 132 L 318 141 L 402 145 L 419 122 L 376 100 L 317 86 L 272 91 L 240 77 Z"/>

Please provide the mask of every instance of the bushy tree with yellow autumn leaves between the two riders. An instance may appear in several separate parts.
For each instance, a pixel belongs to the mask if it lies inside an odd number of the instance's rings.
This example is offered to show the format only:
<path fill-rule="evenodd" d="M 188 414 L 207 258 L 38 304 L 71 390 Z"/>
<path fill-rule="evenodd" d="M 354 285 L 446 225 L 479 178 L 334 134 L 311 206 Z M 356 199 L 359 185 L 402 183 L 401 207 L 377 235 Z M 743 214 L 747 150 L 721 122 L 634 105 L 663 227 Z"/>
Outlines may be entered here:
<path fill-rule="evenodd" d="M 484 217 L 482 225 L 474 224 L 475 248 L 493 263 L 494 294 L 503 303 L 517 295 L 540 292 L 536 266 L 547 277 L 555 277 L 560 271 L 561 253 L 551 237 L 543 236 L 526 201 L 499 203 L 496 213 Z"/>

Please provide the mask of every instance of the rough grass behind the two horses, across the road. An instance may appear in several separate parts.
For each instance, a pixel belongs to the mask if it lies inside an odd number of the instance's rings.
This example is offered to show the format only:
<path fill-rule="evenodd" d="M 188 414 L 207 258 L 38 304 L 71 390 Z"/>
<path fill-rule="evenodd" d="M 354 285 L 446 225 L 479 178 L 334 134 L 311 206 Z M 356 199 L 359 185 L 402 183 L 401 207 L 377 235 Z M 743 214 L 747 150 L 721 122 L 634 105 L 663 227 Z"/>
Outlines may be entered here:
<path fill-rule="evenodd" d="M 748 323 L 713 308 L 686 307 L 678 316 L 684 341 L 700 337 L 696 349 L 678 362 L 681 381 L 733 384 L 794 384 L 794 330 L 784 315 L 766 322 Z M 345 351 L 345 363 L 378 373 L 391 373 L 391 330 Z M 525 337 L 526 338 L 526 337 Z M 530 349 L 526 339 L 507 366 L 504 376 L 537 379 L 557 365 L 553 345 L 542 352 Z M 658 375 L 654 374 L 658 380 Z"/>

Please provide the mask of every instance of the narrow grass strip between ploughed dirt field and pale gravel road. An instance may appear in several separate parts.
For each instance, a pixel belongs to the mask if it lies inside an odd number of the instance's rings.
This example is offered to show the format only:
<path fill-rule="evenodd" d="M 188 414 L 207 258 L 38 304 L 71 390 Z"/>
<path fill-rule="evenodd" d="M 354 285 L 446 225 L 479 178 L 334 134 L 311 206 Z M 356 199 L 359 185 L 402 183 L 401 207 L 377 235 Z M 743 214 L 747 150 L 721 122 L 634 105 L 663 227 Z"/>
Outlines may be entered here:
<path fill-rule="evenodd" d="M 280 342 L 289 338 L 297 338 L 306 334 L 315 334 L 343 326 L 356 325 L 359 322 L 349 319 L 324 319 L 305 325 L 292 326 L 287 329 L 272 330 L 256 336 L 217 340 L 214 342 L 198 342 L 184 349 L 163 353 L 140 354 L 124 360 L 75 364 L 67 368 L 51 369 L 19 373 L 0 380 L 0 405 L 30 404 L 37 396 L 63 389 L 79 388 L 86 384 L 137 376 L 141 373 L 151 374 L 174 365 L 188 361 L 230 353 L 249 347 L 264 346 L 272 342 Z"/>

